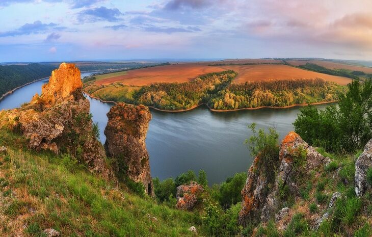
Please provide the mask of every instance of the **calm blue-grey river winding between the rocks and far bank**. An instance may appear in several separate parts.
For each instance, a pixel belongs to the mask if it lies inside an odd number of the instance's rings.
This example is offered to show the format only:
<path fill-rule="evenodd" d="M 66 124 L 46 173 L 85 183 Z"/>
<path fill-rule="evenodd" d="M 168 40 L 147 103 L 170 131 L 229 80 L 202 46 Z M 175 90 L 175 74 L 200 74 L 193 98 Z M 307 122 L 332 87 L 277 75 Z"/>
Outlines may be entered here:
<path fill-rule="evenodd" d="M 84 74 L 89 75 L 89 73 Z M 0 110 L 17 108 L 41 93 L 47 80 L 38 81 L 16 90 L 0 101 Z M 106 114 L 112 104 L 88 98 L 93 121 L 98 122 L 100 141 L 104 143 Z M 317 106 L 325 108 L 325 105 Z M 209 184 L 219 183 L 236 172 L 245 172 L 252 164 L 250 152 L 244 144 L 252 133 L 248 125 L 257 128 L 276 126 L 280 140 L 293 130 L 299 107 L 288 109 L 260 109 L 235 112 L 211 112 L 198 107 L 181 113 L 167 113 L 151 109 L 152 119 L 146 138 L 153 177 L 161 180 L 178 174 L 203 169 Z"/>

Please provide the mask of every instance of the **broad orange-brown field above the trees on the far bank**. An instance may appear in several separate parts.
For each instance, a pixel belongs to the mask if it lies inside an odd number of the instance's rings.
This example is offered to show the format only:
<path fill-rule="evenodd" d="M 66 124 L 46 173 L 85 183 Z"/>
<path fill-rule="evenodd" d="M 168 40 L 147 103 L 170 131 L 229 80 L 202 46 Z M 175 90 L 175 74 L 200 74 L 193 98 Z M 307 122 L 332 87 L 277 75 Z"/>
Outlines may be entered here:
<path fill-rule="evenodd" d="M 120 82 L 123 85 L 144 86 L 152 83 L 182 83 L 190 82 L 197 76 L 234 70 L 238 73 L 234 83 L 261 80 L 281 80 L 290 78 L 324 78 L 326 81 L 335 82 L 340 85 L 347 85 L 350 78 L 327 75 L 323 73 L 303 70 L 287 65 L 259 64 L 259 65 L 229 65 L 229 66 L 207 66 L 207 63 L 172 64 L 129 70 L 126 74 L 107 74 L 101 80 L 95 81 L 96 85 L 109 85 Z"/>

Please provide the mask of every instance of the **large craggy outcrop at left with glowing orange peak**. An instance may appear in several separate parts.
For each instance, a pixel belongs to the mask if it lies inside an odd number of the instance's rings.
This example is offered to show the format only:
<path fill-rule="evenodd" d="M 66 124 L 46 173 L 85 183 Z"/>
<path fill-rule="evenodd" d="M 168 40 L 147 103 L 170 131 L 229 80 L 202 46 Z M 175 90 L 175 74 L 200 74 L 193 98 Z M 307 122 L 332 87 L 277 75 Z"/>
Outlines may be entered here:
<path fill-rule="evenodd" d="M 5 112 L 7 122 L 30 139 L 30 148 L 69 153 L 108 178 L 111 171 L 104 163 L 103 146 L 95 137 L 82 86 L 79 69 L 62 63 L 40 96 L 36 94 L 29 104 Z"/>

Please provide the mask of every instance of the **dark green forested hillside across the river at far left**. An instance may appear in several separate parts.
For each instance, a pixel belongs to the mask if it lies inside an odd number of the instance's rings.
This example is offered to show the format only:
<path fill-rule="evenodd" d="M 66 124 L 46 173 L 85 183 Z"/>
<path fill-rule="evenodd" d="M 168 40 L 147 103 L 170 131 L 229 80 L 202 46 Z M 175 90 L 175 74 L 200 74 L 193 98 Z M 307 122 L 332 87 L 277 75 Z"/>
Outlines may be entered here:
<path fill-rule="evenodd" d="M 26 83 L 50 75 L 56 69 L 52 65 L 32 63 L 28 65 L 0 65 L 0 96 Z"/>

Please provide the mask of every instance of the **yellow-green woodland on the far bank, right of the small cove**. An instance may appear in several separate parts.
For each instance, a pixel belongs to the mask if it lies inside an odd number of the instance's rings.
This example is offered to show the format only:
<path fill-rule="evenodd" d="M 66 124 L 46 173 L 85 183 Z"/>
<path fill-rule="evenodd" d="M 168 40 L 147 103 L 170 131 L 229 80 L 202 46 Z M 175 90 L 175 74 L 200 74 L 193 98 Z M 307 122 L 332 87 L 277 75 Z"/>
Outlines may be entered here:
<path fill-rule="evenodd" d="M 334 101 L 345 88 L 321 78 L 246 82 L 231 84 L 213 97 L 208 106 L 215 110 L 257 107 L 286 107 L 294 104 Z"/>

